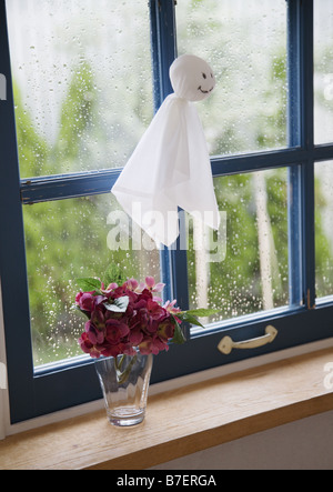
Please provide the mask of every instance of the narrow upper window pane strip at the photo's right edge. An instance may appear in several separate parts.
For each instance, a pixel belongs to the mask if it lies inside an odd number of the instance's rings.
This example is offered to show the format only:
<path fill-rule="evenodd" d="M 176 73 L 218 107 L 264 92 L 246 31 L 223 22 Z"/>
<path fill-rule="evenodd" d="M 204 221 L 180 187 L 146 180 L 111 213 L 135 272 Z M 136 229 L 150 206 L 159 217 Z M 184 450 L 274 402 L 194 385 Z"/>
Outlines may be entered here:
<path fill-rule="evenodd" d="M 314 2 L 314 139 L 333 141 L 333 3 Z"/>

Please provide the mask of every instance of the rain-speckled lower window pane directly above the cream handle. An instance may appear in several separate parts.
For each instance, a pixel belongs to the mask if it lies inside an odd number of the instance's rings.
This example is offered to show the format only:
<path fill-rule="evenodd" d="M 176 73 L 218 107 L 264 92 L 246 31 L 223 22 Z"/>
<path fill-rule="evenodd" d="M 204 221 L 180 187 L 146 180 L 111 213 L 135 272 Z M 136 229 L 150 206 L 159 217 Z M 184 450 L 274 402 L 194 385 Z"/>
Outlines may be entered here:
<path fill-rule="evenodd" d="M 219 321 L 287 305 L 286 170 L 222 177 L 214 183 L 219 237 L 189 221 L 191 307 L 221 309 L 210 320 Z"/>

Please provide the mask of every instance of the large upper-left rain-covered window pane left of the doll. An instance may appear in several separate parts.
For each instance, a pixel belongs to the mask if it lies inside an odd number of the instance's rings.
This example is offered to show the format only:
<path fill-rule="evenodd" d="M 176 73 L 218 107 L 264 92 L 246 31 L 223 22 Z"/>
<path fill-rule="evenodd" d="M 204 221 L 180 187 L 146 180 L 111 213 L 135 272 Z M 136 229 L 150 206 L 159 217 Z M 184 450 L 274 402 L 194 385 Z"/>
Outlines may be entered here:
<path fill-rule="evenodd" d="M 7 9 L 21 177 L 124 165 L 153 113 L 148 2 Z"/>

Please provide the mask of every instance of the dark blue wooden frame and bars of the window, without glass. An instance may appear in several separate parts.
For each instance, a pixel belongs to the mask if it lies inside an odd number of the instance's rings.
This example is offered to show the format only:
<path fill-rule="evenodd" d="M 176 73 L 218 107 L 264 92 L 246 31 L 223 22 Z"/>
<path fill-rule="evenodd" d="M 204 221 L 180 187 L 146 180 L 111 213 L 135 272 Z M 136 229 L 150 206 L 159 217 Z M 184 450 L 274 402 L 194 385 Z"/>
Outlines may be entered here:
<path fill-rule="evenodd" d="M 150 0 L 154 102 L 159 108 L 172 91 L 169 67 L 176 57 L 174 0 Z M 290 305 L 235 318 L 193 332 L 185 345 L 173 345 L 155 359 L 152 383 L 245 358 L 332 337 L 333 299 L 316 304 L 314 164 L 333 159 L 333 144 L 314 144 L 313 0 L 287 0 L 289 147 L 246 155 L 212 158 L 214 177 L 286 168 L 289 170 Z M 7 101 L 0 102 L 0 275 L 9 375 L 11 421 L 101 398 L 93 363 L 72 361 L 34 371 L 30 335 L 29 294 L 22 208 L 44 201 L 109 193 L 120 170 L 20 179 L 12 98 L 6 1 L 0 0 L 0 73 L 6 76 Z M 161 252 L 161 273 L 168 297 L 189 305 L 186 252 Z M 222 355 L 222 335 L 241 341 L 261 337 L 274 324 L 279 337 L 264 349 Z M 82 384 L 84 381 L 84 384 Z"/>

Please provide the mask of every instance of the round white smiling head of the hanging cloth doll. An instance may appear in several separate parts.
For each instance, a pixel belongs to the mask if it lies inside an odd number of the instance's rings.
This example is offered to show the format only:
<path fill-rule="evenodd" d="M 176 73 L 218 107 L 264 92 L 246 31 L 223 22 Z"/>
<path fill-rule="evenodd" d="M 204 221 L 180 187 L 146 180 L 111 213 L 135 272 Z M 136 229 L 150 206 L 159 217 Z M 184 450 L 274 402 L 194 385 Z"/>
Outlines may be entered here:
<path fill-rule="evenodd" d="M 206 99 L 216 83 L 211 67 L 194 54 L 183 54 L 172 63 L 170 80 L 175 96 L 188 101 Z"/>

